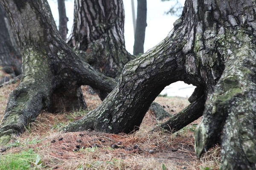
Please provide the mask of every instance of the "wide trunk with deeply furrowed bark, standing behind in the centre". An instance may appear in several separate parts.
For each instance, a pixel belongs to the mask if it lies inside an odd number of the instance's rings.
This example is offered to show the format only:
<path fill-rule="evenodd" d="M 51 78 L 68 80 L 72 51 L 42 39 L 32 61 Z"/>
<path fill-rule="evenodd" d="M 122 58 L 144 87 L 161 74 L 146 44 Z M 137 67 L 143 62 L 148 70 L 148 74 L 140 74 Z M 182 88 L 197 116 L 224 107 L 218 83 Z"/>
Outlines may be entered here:
<path fill-rule="evenodd" d="M 75 0 L 68 44 L 96 70 L 118 79 L 134 59 L 125 50 L 124 19 L 122 0 Z"/>

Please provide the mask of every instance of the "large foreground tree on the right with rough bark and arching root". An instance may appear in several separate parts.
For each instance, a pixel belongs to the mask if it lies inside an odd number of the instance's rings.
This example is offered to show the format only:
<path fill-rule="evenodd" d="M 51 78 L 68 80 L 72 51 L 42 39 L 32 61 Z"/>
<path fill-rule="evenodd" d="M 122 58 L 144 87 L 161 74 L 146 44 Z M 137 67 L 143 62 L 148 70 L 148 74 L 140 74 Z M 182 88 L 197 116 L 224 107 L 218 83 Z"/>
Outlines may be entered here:
<path fill-rule="evenodd" d="M 204 115 L 195 132 L 197 156 L 219 143 L 222 169 L 255 170 L 255 7 L 248 0 L 186 0 L 166 39 L 128 62 L 111 94 L 65 130 L 137 130 L 160 91 L 184 81 L 198 88 L 181 113 Z M 180 128 L 175 119 L 166 122 L 169 130 Z"/>

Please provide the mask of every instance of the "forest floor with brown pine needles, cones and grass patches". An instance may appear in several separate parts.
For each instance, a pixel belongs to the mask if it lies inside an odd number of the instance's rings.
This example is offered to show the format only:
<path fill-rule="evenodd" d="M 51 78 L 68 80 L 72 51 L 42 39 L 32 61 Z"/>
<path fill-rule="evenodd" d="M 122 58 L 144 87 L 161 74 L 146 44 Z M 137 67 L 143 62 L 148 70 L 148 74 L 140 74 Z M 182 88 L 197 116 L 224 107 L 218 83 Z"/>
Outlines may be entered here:
<path fill-rule="evenodd" d="M 9 93 L 16 84 L 0 88 L 0 119 Z M 0 170 L 57 169 L 57 170 L 218 170 L 220 147 L 215 146 L 201 159 L 194 151 L 193 133 L 200 119 L 176 133 L 164 130 L 150 132 L 166 121 L 155 119 L 148 111 L 140 130 L 131 134 L 109 134 L 95 131 L 63 133 L 67 123 L 80 119 L 100 104 L 96 95 L 83 86 L 86 111 L 42 113 L 26 127 L 26 131 L 7 146 L 0 146 Z M 155 102 L 166 111 L 177 114 L 186 105 L 180 97 L 157 97 Z"/>

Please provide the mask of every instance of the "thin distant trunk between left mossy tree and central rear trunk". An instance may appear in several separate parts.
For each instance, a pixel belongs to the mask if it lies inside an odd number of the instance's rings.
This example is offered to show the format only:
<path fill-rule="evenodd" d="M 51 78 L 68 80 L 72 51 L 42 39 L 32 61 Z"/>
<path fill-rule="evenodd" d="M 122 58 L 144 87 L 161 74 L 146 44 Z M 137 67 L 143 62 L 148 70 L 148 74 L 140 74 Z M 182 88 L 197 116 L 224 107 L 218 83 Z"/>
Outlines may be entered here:
<path fill-rule="evenodd" d="M 59 11 L 59 32 L 61 34 L 61 38 L 66 41 L 67 40 L 67 21 L 68 17 L 66 15 L 66 7 L 65 0 L 58 0 L 58 11 Z"/>

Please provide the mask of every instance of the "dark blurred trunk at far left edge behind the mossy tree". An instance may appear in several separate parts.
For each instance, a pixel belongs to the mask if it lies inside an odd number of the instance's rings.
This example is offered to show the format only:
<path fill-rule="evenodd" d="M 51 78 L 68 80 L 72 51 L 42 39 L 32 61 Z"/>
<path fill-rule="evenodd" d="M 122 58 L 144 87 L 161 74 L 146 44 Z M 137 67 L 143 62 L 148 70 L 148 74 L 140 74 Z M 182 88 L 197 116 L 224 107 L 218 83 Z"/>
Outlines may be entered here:
<path fill-rule="evenodd" d="M 11 76 L 21 74 L 21 52 L 12 31 L 6 11 L 0 4 L 0 66 Z"/>

